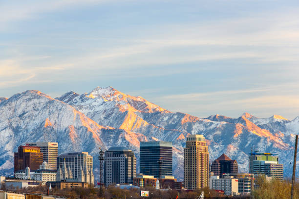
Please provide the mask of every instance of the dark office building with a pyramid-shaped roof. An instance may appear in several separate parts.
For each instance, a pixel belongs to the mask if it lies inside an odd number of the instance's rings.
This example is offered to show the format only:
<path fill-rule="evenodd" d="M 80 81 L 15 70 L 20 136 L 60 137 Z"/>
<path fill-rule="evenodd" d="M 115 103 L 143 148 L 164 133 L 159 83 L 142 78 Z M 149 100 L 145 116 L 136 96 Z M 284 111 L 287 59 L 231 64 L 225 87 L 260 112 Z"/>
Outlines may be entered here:
<path fill-rule="evenodd" d="M 211 165 L 211 171 L 215 176 L 222 176 L 222 174 L 238 173 L 238 163 L 235 159 L 230 159 L 225 154 L 215 159 Z"/>

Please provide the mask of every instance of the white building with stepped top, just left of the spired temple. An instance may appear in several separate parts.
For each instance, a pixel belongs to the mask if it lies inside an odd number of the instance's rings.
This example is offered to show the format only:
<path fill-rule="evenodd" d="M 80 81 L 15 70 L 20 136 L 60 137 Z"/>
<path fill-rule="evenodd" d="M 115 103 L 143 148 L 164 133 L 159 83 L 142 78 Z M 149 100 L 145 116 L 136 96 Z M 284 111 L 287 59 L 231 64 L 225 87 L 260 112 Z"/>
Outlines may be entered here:
<path fill-rule="evenodd" d="M 50 170 L 49 168 L 50 166 L 47 164 L 47 162 L 43 162 L 38 170 L 30 171 L 30 168 L 26 167 L 25 170 L 16 171 L 15 178 L 42 181 L 43 185 L 45 185 L 45 183 L 48 181 L 56 181 L 56 171 Z"/>

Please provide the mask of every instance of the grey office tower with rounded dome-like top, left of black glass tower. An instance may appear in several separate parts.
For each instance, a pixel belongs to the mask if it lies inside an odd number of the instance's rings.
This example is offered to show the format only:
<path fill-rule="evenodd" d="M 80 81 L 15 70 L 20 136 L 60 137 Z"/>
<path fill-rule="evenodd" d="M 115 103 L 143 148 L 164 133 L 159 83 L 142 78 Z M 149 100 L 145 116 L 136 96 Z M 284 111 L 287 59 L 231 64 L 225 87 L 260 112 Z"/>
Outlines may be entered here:
<path fill-rule="evenodd" d="M 136 157 L 125 147 L 111 147 L 105 152 L 104 183 L 132 184 L 136 177 Z"/>

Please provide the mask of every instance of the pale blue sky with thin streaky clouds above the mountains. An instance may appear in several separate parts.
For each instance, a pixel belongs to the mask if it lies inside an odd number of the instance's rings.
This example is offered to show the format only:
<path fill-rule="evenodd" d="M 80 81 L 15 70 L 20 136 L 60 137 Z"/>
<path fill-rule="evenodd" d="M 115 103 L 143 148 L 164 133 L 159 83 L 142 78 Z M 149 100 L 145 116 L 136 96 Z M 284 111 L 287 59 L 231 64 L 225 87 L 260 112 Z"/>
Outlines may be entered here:
<path fill-rule="evenodd" d="M 298 0 L 0 1 L 0 97 L 112 86 L 173 112 L 299 116 Z"/>

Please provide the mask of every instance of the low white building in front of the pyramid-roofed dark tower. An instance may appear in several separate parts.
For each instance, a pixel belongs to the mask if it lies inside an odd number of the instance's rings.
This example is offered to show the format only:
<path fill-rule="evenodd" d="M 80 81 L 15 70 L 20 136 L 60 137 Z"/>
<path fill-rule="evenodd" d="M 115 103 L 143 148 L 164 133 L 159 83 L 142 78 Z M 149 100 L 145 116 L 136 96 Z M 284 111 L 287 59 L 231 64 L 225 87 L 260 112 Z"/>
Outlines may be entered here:
<path fill-rule="evenodd" d="M 238 195 L 238 179 L 232 176 L 225 176 L 221 179 L 219 176 L 211 176 L 210 189 L 222 190 L 226 196 Z"/>

